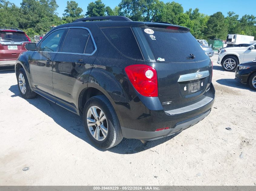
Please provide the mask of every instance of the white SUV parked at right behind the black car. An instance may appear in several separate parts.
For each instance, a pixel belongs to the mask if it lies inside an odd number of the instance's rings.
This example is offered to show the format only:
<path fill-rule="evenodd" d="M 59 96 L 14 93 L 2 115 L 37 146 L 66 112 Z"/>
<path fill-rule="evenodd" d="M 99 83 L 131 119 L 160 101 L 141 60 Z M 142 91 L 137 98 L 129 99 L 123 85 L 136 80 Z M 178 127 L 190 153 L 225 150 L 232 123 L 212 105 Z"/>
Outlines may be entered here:
<path fill-rule="evenodd" d="M 225 71 L 233 72 L 239 64 L 255 58 L 256 44 L 248 47 L 230 47 L 221 50 L 217 63 L 221 64 Z"/>

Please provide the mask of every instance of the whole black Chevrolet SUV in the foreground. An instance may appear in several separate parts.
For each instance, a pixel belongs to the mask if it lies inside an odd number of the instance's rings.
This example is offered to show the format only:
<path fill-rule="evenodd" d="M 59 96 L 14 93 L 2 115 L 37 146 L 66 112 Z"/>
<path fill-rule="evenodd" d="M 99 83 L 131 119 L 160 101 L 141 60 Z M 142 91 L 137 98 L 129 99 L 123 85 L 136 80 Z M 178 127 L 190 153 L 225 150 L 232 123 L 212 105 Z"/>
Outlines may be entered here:
<path fill-rule="evenodd" d="M 212 62 L 186 27 L 82 18 L 26 49 L 15 65 L 22 97 L 40 94 L 83 116 L 100 148 L 178 133 L 214 103 Z"/>

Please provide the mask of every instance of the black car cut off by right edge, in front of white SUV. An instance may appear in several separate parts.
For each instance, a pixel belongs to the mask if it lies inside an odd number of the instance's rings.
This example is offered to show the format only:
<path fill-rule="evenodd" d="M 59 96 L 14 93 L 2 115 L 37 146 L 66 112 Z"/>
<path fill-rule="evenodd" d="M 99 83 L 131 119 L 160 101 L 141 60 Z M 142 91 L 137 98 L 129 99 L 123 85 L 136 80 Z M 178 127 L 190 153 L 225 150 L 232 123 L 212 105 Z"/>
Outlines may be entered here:
<path fill-rule="evenodd" d="M 235 71 L 235 80 L 249 84 L 252 90 L 256 90 L 256 60 L 239 64 Z"/>

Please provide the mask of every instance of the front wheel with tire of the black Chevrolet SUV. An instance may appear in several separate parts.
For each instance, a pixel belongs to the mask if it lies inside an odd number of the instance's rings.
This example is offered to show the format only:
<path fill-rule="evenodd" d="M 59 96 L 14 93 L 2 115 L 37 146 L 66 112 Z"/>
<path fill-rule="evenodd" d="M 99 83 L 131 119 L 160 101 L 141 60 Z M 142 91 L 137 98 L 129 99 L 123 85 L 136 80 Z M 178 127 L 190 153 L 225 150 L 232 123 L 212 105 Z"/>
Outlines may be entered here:
<path fill-rule="evenodd" d="M 19 69 L 17 82 L 18 82 L 18 89 L 23 98 L 30 99 L 36 96 L 36 93 L 30 89 L 28 78 L 24 68 Z"/>

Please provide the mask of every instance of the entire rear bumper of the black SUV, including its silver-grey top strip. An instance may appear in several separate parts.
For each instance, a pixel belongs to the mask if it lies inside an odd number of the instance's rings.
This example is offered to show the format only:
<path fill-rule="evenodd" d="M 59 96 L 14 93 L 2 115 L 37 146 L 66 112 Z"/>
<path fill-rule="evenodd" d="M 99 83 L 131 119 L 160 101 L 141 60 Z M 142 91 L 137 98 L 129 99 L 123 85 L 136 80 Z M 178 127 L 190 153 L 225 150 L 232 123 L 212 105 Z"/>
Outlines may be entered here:
<path fill-rule="evenodd" d="M 154 140 L 180 132 L 201 121 L 211 111 L 214 94 L 215 90 L 211 84 L 204 95 L 205 99 L 168 111 L 163 108 L 151 110 L 142 103 L 139 97 L 135 97 L 129 103 L 113 102 L 112 105 L 125 138 Z M 159 104 L 162 106 L 160 102 Z M 158 103 L 154 102 L 154 105 Z M 155 132 L 156 129 L 166 127 L 170 129 Z"/>

